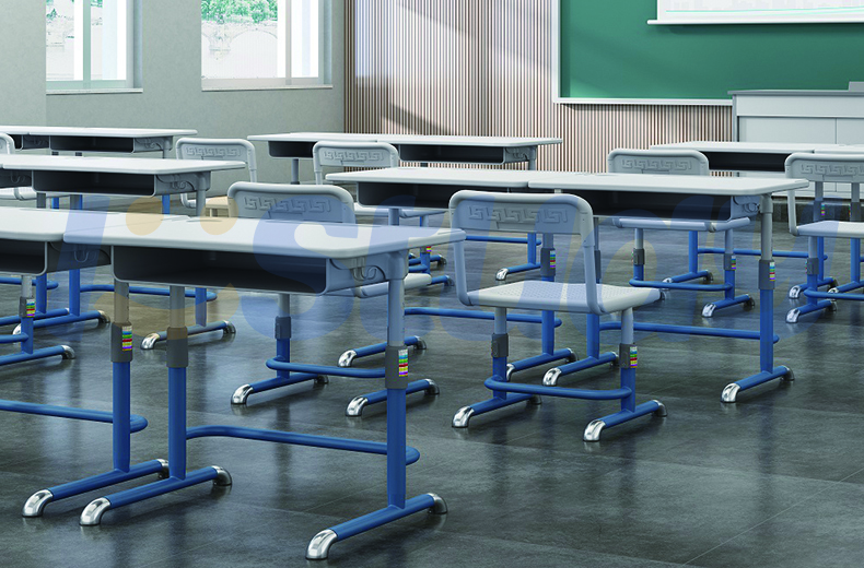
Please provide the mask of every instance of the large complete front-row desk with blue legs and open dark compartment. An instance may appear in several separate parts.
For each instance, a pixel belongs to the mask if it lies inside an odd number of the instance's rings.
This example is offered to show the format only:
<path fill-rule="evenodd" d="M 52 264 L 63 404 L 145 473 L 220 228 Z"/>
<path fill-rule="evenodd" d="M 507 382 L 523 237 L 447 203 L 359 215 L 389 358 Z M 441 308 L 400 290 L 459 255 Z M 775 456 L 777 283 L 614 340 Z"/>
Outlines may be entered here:
<path fill-rule="evenodd" d="M 431 510 L 446 512 L 434 494 L 406 499 L 406 465 L 419 452 L 406 446 L 405 389 L 408 384 L 407 347 L 404 343 L 404 279 L 408 250 L 465 239 L 453 229 L 295 223 L 273 220 L 202 217 L 163 222 L 147 235 L 117 225 L 105 229 L 67 232 L 71 244 L 112 247 L 112 267 L 119 283 L 145 282 L 171 286 L 168 328 L 168 468 L 170 476 L 150 485 L 122 490 L 92 501 L 81 524 L 98 524 L 115 509 L 183 487 L 213 481 L 231 483 L 221 468 L 186 471 L 187 439 L 223 436 L 297 443 L 320 448 L 386 454 L 387 507 L 318 533 L 306 557 L 326 558 L 334 542 L 342 541 L 408 514 Z M 387 442 L 370 442 L 235 426 L 186 427 L 186 367 L 188 343 L 183 310 L 184 286 L 221 286 L 283 294 L 325 294 L 361 284 L 388 283 Z M 118 295 L 127 291 L 118 286 Z M 128 311 L 115 320 L 128 318 Z M 113 360 L 131 359 L 131 352 L 113 350 Z"/>

